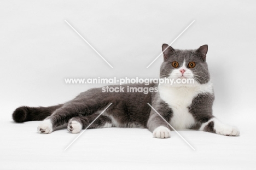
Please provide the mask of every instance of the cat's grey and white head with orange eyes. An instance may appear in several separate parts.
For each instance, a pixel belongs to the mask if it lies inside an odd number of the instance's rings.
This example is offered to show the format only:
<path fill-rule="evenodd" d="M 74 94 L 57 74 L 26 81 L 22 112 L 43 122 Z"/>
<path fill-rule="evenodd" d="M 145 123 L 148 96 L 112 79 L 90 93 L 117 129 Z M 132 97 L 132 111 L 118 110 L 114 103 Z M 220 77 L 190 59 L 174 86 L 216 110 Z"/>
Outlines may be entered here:
<path fill-rule="evenodd" d="M 163 44 L 164 62 L 160 67 L 160 78 L 194 79 L 196 84 L 207 83 L 210 80 L 207 51 L 208 45 L 202 45 L 196 50 L 178 50 Z"/>

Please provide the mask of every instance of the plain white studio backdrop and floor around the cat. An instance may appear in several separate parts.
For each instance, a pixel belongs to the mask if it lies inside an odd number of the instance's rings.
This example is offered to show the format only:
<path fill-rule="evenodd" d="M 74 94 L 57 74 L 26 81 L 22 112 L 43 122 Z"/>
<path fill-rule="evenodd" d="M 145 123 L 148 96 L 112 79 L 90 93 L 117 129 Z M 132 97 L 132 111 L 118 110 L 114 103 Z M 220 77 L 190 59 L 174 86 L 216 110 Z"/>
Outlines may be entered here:
<path fill-rule="evenodd" d="M 1 1 L 0 169 L 252 169 L 255 166 L 254 1 Z M 67 20 L 106 60 L 69 27 Z M 15 124 L 21 105 L 63 103 L 102 85 L 65 78 L 158 78 L 162 43 L 196 49 L 208 44 L 214 115 L 240 137 L 182 131 L 155 139 L 147 129 L 105 128 L 77 137 L 36 132 L 39 121 Z"/>

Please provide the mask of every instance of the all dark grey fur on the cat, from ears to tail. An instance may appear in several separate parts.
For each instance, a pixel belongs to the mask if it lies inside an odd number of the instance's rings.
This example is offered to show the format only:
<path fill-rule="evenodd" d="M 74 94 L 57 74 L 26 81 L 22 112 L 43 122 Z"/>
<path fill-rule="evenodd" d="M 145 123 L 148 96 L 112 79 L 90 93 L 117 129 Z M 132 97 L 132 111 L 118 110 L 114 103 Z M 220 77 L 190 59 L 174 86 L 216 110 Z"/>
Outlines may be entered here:
<path fill-rule="evenodd" d="M 167 49 L 166 49 L 167 48 Z M 166 50 L 165 50 L 166 49 Z M 210 74 L 206 63 L 206 53 L 208 50 L 207 45 L 200 46 L 196 50 L 175 50 L 167 44 L 162 45 L 164 51 L 164 62 L 160 67 L 160 78 L 168 77 L 168 74 L 173 71 L 171 63 L 173 61 L 182 65 L 183 61 L 193 61 L 196 63 L 194 68 L 190 70 L 197 75 L 195 77 L 199 84 L 205 84 L 210 80 Z M 109 87 L 116 87 L 118 85 L 112 85 Z M 149 84 L 148 86 L 143 84 L 129 84 L 130 87 L 158 87 L 158 84 Z M 127 85 L 124 86 L 127 91 Z M 211 93 L 200 93 L 197 95 L 191 105 L 188 107 L 189 113 L 193 115 L 195 119 L 195 125 L 193 128 L 199 129 L 201 125 L 211 118 L 212 104 L 214 101 L 214 95 Z M 53 130 L 56 127 L 63 124 L 68 124 L 68 130 L 72 131 L 72 120 L 76 120 L 82 124 L 82 128 L 86 128 L 98 114 L 107 107 L 110 103 L 113 103 L 104 115 L 101 115 L 90 128 L 101 128 L 105 124 L 111 124 L 118 127 L 144 127 L 153 132 L 159 126 L 168 127 L 166 122 L 160 118 L 158 114 L 152 110 L 149 105 L 151 104 L 164 119 L 168 122 L 171 121 L 173 116 L 173 109 L 165 103 L 159 95 L 159 92 L 152 92 L 144 94 L 142 92 L 102 92 L 101 88 L 90 89 L 88 91 L 80 93 L 77 97 L 64 104 L 56 105 L 54 107 L 20 107 L 13 113 L 13 119 L 16 122 L 24 122 L 31 120 L 43 120 L 50 119 L 53 124 Z M 117 121 L 118 125 L 114 124 Z M 214 132 L 214 123 L 210 122 L 205 131 Z M 42 133 L 43 130 L 40 130 Z"/>

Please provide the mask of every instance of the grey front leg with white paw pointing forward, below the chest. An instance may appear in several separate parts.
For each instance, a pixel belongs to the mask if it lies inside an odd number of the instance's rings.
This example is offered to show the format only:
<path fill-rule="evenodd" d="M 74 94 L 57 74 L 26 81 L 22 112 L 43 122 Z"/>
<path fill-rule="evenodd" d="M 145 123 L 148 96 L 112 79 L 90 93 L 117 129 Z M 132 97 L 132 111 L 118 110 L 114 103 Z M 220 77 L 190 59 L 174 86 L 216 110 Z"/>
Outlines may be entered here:
<path fill-rule="evenodd" d="M 170 121 L 173 114 L 172 109 L 164 102 L 160 102 L 158 107 L 155 107 L 156 111 L 164 118 L 167 122 Z M 171 130 L 168 124 L 158 115 L 153 109 L 151 110 L 147 127 L 149 131 L 153 133 L 155 138 L 170 138 Z"/>

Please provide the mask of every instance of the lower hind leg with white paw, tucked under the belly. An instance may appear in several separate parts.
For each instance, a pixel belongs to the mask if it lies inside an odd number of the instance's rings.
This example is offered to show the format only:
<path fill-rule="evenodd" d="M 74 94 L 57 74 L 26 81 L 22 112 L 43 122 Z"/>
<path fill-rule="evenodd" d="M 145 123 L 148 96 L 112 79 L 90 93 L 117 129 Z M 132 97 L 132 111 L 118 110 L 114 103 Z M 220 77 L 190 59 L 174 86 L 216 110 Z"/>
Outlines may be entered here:
<path fill-rule="evenodd" d="M 81 130 L 88 127 L 92 121 L 94 121 L 99 114 L 92 114 L 89 116 L 76 116 L 68 121 L 68 131 L 71 133 L 79 133 Z M 98 117 L 93 124 L 88 128 L 103 128 L 112 127 L 112 120 L 105 115 Z"/>

